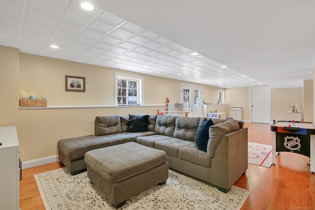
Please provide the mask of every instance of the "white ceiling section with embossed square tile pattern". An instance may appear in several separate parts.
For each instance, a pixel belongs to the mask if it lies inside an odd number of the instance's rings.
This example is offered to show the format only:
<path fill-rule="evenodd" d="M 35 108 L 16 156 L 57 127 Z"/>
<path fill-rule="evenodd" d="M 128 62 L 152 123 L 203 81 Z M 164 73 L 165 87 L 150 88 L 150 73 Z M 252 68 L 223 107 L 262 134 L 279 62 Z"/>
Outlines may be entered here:
<path fill-rule="evenodd" d="M 80 2 L 0 0 L 0 45 L 221 88 L 261 85 L 108 11 L 85 11 Z M 50 48 L 52 44 L 59 49 Z"/>

